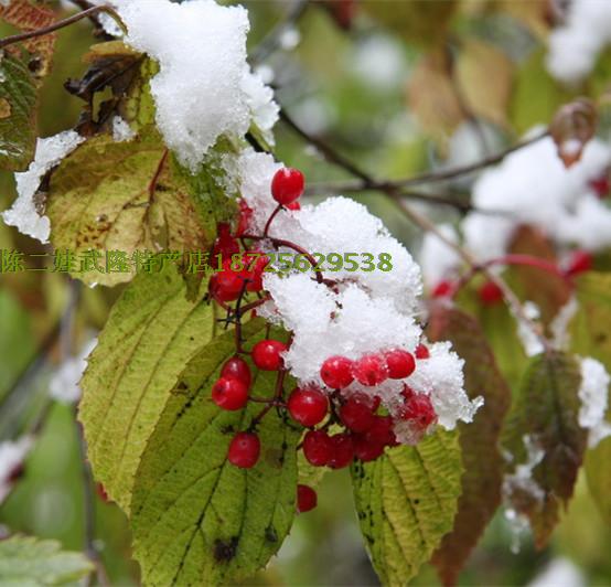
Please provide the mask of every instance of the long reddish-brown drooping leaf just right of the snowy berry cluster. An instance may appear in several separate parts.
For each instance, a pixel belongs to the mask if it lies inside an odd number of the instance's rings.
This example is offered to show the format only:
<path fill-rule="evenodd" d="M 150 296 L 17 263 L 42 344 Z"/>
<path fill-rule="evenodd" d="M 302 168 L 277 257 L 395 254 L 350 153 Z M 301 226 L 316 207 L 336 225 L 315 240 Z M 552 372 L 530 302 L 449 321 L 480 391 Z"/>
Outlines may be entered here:
<path fill-rule="evenodd" d="M 478 321 L 458 309 L 435 308 L 429 314 L 430 340 L 448 340 L 464 364 L 464 387 L 471 399 L 484 405 L 473 423 L 459 424 L 464 473 L 458 513 L 433 563 L 446 585 L 453 585 L 484 529 L 501 504 L 504 461 L 499 439 L 511 391 L 501 375 L 492 349 Z"/>

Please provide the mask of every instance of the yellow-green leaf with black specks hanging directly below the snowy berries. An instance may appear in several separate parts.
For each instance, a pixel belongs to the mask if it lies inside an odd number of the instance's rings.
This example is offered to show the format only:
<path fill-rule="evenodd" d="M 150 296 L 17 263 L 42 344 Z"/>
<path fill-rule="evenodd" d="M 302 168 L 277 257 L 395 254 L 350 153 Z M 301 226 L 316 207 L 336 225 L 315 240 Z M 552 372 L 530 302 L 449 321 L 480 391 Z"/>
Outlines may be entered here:
<path fill-rule="evenodd" d="M 443 430 L 352 467 L 361 531 L 384 585 L 405 585 L 452 529 L 461 474 L 458 435 Z"/>

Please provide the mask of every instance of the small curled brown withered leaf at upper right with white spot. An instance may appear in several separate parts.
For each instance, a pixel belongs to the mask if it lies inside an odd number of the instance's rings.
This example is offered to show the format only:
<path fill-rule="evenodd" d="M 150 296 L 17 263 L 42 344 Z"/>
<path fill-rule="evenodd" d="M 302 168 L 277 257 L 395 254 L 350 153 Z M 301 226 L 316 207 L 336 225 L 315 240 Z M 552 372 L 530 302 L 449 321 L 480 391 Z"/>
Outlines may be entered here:
<path fill-rule="evenodd" d="M 565 104 L 554 115 L 549 134 L 558 149 L 558 157 L 566 168 L 577 163 L 586 143 L 594 136 L 598 111 L 589 98 L 578 98 Z"/>

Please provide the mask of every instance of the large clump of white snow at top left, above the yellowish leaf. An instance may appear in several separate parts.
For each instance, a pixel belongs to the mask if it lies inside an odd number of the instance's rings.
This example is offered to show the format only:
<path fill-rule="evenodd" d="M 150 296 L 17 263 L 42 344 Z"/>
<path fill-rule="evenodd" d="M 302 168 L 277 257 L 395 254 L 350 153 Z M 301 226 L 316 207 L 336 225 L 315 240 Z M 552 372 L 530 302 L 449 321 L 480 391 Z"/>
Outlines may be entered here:
<path fill-rule="evenodd" d="M 242 137 L 253 118 L 268 131 L 272 93 L 246 62 L 248 13 L 213 0 L 115 0 L 126 42 L 160 66 L 151 79 L 165 143 L 192 171 L 221 135 Z"/>

